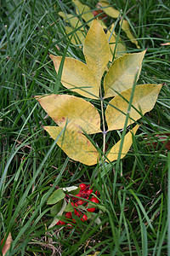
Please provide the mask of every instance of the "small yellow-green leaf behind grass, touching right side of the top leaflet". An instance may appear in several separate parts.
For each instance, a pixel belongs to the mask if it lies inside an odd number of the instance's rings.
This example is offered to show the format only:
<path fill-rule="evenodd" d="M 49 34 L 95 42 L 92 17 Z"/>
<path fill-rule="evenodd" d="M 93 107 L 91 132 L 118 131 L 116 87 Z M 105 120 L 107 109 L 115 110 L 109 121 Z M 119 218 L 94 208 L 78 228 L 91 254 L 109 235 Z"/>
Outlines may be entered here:
<path fill-rule="evenodd" d="M 116 44 L 117 36 L 116 36 L 115 31 L 112 32 L 113 27 L 114 27 L 114 24 L 112 24 L 111 29 L 108 30 L 107 33 L 106 33 L 107 39 L 108 40 L 110 39 L 109 46 L 110 46 L 111 52 L 110 52 L 109 60 L 111 62 L 112 62 L 112 59 L 113 59 L 113 53 L 115 51 L 115 47 L 116 47 L 115 57 L 117 57 L 117 58 L 121 57 L 122 55 L 125 55 L 125 53 L 127 52 L 127 48 L 126 48 L 125 44 L 123 44 L 121 37 L 118 38 L 118 41 L 117 41 L 117 44 Z M 111 35 L 111 32 L 112 32 L 112 35 Z"/>

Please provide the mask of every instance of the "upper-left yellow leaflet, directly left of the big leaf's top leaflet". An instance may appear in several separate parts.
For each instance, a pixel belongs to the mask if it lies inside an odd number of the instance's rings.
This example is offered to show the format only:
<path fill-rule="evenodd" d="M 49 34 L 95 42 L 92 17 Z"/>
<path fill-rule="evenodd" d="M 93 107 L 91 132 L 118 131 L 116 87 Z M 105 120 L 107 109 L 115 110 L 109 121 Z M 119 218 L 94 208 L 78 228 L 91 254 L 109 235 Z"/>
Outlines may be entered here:
<path fill-rule="evenodd" d="M 56 72 L 58 72 L 62 57 L 54 55 L 50 55 L 50 57 L 54 61 Z M 82 61 L 65 57 L 61 82 L 66 88 L 76 91 L 82 96 L 92 99 L 99 97 L 99 84 L 88 66 Z"/>

